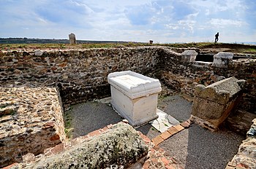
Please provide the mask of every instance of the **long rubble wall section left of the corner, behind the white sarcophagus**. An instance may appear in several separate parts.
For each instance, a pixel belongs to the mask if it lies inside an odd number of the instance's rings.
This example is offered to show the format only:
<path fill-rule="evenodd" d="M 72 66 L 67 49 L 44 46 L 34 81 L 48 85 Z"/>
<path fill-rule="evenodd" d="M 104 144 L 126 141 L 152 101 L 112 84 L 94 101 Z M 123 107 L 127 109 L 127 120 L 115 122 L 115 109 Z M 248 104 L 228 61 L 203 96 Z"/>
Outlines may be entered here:
<path fill-rule="evenodd" d="M 57 84 L 65 105 L 110 95 L 107 76 L 131 70 L 147 74 L 157 66 L 158 47 L 90 50 L 1 51 L 1 85 Z"/>

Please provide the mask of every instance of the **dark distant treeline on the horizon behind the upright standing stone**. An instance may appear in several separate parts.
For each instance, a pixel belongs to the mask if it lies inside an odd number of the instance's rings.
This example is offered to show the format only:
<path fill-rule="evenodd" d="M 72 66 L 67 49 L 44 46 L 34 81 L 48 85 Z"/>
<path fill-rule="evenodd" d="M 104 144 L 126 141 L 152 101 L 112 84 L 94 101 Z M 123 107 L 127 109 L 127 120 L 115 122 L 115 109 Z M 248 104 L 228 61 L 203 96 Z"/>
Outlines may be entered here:
<path fill-rule="evenodd" d="M 124 41 L 85 41 L 77 40 L 78 44 L 127 43 Z M 29 39 L 29 38 L 0 38 L 0 44 L 69 44 L 68 39 Z"/>

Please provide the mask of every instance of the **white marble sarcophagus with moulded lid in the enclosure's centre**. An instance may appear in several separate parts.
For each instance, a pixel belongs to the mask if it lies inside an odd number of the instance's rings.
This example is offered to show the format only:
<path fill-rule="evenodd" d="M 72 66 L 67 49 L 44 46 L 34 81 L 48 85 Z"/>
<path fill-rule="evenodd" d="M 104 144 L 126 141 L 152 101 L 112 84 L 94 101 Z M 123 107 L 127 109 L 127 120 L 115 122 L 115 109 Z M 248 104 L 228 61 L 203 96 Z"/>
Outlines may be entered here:
<path fill-rule="evenodd" d="M 157 119 L 157 98 L 162 90 L 158 79 L 133 71 L 108 75 L 111 84 L 111 104 L 132 126 Z"/>

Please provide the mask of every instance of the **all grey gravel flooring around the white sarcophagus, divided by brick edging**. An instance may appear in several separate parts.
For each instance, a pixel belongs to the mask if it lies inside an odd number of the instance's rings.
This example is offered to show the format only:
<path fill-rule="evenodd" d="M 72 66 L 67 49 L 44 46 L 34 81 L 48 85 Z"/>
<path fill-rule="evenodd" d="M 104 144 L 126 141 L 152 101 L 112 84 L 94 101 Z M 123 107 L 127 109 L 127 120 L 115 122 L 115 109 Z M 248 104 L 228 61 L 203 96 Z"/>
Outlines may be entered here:
<path fill-rule="evenodd" d="M 179 95 L 160 98 L 158 107 L 170 114 L 178 121 L 189 119 L 192 103 Z M 112 107 L 105 103 L 89 101 L 72 106 L 73 138 L 86 135 L 91 131 L 105 127 L 109 124 L 120 122 L 122 118 L 113 111 Z M 144 135 L 152 139 L 160 133 L 151 127 L 144 125 L 138 127 Z M 183 168 L 225 168 L 238 151 L 238 146 L 245 138 L 241 135 L 222 129 L 212 133 L 198 125 L 192 125 L 186 130 L 173 135 L 159 144 L 166 153 L 177 160 Z"/>

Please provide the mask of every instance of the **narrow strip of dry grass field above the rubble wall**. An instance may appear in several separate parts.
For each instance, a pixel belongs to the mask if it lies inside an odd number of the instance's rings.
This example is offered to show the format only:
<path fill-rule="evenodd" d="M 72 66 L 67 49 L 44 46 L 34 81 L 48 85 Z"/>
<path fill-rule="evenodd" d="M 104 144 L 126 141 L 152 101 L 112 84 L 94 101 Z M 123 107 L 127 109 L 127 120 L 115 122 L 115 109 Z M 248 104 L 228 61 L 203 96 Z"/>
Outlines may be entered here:
<path fill-rule="evenodd" d="M 140 47 L 140 46 L 166 46 L 175 48 L 227 48 L 230 52 L 251 53 L 256 54 L 256 45 L 249 44 L 225 44 L 211 42 L 192 42 L 192 43 L 173 43 L 173 44 L 148 44 L 148 43 L 93 43 L 93 44 L 0 44 L 0 50 L 44 50 L 44 49 L 59 49 L 59 50 L 78 50 L 89 48 L 110 48 L 110 47 Z"/>

